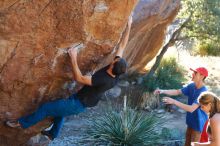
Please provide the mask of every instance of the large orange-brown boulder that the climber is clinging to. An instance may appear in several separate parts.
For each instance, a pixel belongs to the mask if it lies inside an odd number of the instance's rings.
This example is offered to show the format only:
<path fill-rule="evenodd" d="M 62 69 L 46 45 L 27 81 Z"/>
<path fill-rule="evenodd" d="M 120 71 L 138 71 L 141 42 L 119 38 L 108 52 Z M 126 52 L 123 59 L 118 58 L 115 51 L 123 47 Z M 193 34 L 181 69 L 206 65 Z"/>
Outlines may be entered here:
<path fill-rule="evenodd" d="M 84 73 L 93 70 L 118 43 L 136 2 L 0 1 L 1 144 L 18 145 L 42 127 L 14 130 L 3 126 L 4 120 L 68 94 L 71 66 L 65 48 L 83 43 L 79 65 Z"/>

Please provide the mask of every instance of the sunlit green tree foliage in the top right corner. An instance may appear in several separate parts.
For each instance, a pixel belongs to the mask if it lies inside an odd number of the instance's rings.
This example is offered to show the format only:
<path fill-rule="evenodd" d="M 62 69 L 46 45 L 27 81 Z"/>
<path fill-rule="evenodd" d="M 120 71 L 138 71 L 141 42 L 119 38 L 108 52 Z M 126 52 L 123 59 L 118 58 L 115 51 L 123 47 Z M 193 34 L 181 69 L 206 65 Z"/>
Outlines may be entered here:
<path fill-rule="evenodd" d="M 212 40 L 220 45 L 220 1 L 219 0 L 182 0 L 182 9 L 178 20 L 190 21 L 181 32 L 181 36 L 199 42 Z"/>

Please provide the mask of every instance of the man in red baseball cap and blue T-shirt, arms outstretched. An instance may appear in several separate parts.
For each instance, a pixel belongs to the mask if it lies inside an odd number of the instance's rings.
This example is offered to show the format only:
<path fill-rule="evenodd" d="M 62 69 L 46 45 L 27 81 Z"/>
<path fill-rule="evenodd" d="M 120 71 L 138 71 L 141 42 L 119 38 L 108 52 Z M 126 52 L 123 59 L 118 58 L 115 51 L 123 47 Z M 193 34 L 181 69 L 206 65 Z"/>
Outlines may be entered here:
<path fill-rule="evenodd" d="M 155 94 L 166 94 L 170 96 L 176 96 L 184 94 L 188 97 L 188 104 L 181 103 L 170 97 L 164 97 L 163 102 L 165 104 L 174 104 L 179 108 L 187 111 L 186 115 L 186 141 L 185 146 L 191 146 L 191 142 L 199 142 L 203 127 L 208 120 L 208 115 L 199 108 L 197 101 L 199 95 L 207 91 L 204 80 L 208 76 L 208 70 L 204 67 L 191 69 L 193 71 L 192 83 L 188 84 L 182 89 L 171 89 L 171 90 L 155 90 Z"/>

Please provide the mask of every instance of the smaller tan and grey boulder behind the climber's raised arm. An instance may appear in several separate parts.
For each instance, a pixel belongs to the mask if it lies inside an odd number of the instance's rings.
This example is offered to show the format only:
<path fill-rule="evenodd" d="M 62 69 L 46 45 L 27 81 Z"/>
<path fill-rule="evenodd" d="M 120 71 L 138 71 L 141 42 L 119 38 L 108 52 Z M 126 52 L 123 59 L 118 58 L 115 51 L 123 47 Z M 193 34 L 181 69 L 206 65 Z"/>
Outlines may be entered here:
<path fill-rule="evenodd" d="M 179 0 L 140 0 L 134 11 L 125 57 L 130 71 L 141 70 L 161 48 L 167 26 L 180 8 Z"/>

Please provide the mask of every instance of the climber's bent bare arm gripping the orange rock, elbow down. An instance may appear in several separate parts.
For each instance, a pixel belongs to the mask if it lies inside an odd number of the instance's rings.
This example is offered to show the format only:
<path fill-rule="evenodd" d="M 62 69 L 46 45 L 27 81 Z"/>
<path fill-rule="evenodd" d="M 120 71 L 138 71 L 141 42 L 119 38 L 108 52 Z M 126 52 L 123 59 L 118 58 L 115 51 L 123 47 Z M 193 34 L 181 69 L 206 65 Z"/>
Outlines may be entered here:
<path fill-rule="evenodd" d="M 92 85 L 92 76 L 84 76 L 82 75 L 78 63 L 77 63 L 77 49 L 76 48 L 70 48 L 68 50 L 68 54 L 71 58 L 72 63 L 72 70 L 73 70 L 73 76 L 74 79 L 84 85 Z"/>

